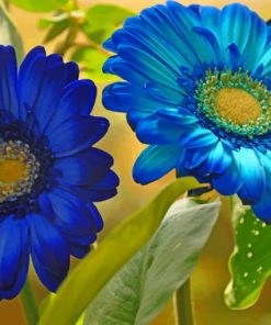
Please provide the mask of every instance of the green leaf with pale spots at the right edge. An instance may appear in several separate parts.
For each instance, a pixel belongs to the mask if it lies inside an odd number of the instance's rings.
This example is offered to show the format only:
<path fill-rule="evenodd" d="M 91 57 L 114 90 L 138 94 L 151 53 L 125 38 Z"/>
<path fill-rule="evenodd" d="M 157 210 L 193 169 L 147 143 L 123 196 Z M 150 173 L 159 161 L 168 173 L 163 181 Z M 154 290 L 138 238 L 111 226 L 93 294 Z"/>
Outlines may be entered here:
<path fill-rule="evenodd" d="M 257 302 L 271 274 L 271 227 L 240 202 L 235 204 L 233 224 L 235 248 L 229 258 L 232 280 L 225 302 L 230 309 L 241 310 Z"/>

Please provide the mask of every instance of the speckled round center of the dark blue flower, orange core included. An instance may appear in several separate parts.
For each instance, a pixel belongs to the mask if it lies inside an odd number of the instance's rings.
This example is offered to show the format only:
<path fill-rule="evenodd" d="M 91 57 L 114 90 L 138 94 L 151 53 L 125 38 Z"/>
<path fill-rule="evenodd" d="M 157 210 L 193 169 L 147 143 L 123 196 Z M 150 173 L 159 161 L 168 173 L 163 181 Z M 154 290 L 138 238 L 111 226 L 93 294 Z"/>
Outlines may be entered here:
<path fill-rule="evenodd" d="M 0 141 L 0 203 L 27 194 L 38 177 L 39 162 L 21 141 Z"/>

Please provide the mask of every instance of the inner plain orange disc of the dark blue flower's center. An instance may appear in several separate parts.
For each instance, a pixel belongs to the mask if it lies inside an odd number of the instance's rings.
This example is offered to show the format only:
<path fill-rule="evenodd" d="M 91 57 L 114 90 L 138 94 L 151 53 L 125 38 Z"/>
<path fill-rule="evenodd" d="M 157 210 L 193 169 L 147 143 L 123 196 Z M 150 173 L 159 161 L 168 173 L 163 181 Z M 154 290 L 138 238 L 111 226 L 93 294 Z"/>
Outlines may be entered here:
<path fill-rule="evenodd" d="M 19 159 L 0 160 L 0 182 L 11 184 L 24 180 L 27 172 L 27 166 Z"/>

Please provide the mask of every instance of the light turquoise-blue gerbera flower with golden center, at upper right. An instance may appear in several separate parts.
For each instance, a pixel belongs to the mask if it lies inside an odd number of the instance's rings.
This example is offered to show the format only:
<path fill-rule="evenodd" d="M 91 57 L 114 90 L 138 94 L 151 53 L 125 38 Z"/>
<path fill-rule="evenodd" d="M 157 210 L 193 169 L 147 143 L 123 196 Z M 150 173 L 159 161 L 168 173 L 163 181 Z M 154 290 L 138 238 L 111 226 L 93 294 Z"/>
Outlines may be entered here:
<path fill-rule="evenodd" d="M 237 193 L 271 222 L 271 27 L 241 4 L 174 1 L 128 19 L 105 42 L 115 82 L 104 105 L 149 144 L 134 166 L 148 183 L 171 169 Z"/>

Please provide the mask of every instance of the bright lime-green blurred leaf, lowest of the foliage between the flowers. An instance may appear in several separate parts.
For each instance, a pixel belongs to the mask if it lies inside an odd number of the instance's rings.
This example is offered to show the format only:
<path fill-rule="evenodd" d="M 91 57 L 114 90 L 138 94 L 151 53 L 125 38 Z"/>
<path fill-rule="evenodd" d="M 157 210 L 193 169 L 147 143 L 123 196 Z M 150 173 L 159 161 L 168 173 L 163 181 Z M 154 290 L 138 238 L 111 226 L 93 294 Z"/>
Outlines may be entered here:
<path fill-rule="evenodd" d="M 99 46 L 99 45 L 98 45 Z M 103 74 L 102 67 L 109 54 L 102 47 L 90 48 L 79 47 L 72 54 L 71 59 L 80 65 L 80 70 L 87 78 L 95 81 L 111 81 L 115 80 L 115 76 Z"/>

